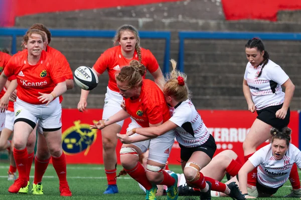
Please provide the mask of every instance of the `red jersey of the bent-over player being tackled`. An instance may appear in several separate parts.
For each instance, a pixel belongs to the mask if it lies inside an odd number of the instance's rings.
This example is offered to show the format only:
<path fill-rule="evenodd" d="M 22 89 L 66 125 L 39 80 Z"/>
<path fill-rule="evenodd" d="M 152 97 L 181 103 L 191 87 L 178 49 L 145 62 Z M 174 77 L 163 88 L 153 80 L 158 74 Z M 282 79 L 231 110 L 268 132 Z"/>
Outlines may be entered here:
<path fill-rule="evenodd" d="M 164 94 L 152 80 L 144 79 L 137 99 L 124 98 L 127 113 L 142 127 L 167 121 L 171 116 Z"/>

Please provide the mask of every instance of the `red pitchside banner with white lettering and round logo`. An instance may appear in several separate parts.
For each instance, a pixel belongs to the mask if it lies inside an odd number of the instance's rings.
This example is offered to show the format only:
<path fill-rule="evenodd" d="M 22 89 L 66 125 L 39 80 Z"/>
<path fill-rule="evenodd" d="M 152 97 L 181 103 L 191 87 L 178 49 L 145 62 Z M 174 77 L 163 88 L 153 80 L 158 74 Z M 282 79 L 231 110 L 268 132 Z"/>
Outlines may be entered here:
<path fill-rule="evenodd" d="M 243 160 L 242 143 L 257 115 L 241 110 L 198 111 L 215 138 L 217 144 L 215 154 L 225 149 L 232 149 Z M 88 109 L 83 113 L 77 109 L 63 109 L 62 146 L 66 153 L 67 163 L 103 163 L 101 131 L 89 128 L 93 120 L 99 120 L 101 116 L 102 109 Z M 129 118 L 125 120 L 121 133 L 125 133 L 129 122 Z M 292 143 L 298 146 L 299 115 L 297 111 L 290 112 L 289 127 L 292 129 Z M 261 146 L 266 144 L 267 142 Z M 116 147 L 118 163 L 120 163 L 120 147 L 121 142 L 118 140 Z M 177 160 L 180 160 L 180 147 L 176 141 L 170 154 L 169 163 L 179 164 Z"/>

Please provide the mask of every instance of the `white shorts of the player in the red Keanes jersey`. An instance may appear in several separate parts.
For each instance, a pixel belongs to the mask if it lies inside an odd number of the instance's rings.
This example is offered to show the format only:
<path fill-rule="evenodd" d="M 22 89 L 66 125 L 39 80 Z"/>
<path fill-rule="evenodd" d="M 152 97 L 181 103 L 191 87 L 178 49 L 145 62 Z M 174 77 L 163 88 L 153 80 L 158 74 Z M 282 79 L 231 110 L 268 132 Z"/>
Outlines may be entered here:
<path fill-rule="evenodd" d="M 62 127 L 62 106 L 59 98 L 54 99 L 47 106 L 45 105 L 31 104 L 17 98 L 14 107 L 15 122 L 21 118 L 28 119 L 29 124 L 34 128 L 39 120 L 44 132 Z M 21 121 L 23 121 L 22 119 Z"/>

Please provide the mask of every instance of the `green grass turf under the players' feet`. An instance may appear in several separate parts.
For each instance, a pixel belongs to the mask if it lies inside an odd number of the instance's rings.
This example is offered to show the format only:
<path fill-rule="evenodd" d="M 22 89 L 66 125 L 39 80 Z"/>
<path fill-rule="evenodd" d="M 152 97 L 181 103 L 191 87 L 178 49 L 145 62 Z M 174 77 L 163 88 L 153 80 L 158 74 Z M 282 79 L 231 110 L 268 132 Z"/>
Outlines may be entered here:
<path fill-rule="evenodd" d="M 34 164 L 33 164 L 34 166 Z M 170 165 L 171 170 L 176 173 L 181 173 L 182 169 L 180 165 Z M 13 181 L 7 180 L 7 171 L 9 168 L 8 163 L 0 163 L 0 199 L 61 199 L 59 192 L 59 180 L 53 166 L 50 164 L 44 177 L 43 177 L 43 190 L 44 195 L 33 195 L 31 192 L 28 194 L 12 194 L 8 192 L 9 186 Z M 121 166 L 117 166 L 117 172 L 121 169 Z M 31 170 L 31 185 L 34 175 L 34 168 Z M 137 200 L 144 199 L 145 194 L 138 186 L 137 182 L 128 175 L 119 177 L 117 179 L 117 185 L 119 193 L 117 194 L 102 194 L 106 189 L 106 176 L 103 170 L 103 165 L 95 164 L 69 164 L 67 166 L 67 179 L 73 196 L 67 197 L 70 199 L 128 199 Z M 225 180 L 223 180 L 225 182 Z M 297 198 L 281 198 L 282 196 L 290 193 L 291 186 L 289 181 L 281 187 L 276 194 L 271 198 L 260 199 L 297 199 Z M 166 196 L 158 196 L 158 200 L 167 199 Z M 180 200 L 200 199 L 198 196 L 179 196 Z M 228 197 L 212 197 L 212 199 L 224 199 L 228 200 Z"/>

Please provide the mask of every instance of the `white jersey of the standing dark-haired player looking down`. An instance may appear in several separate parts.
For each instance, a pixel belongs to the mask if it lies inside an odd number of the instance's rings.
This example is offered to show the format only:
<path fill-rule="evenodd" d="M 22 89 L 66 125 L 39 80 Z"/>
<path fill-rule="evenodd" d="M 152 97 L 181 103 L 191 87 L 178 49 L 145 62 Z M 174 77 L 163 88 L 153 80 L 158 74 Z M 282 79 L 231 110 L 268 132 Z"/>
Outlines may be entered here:
<path fill-rule="evenodd" d="M 288 75 L 272 60 L 268 60 L 258 77 L 260 70 L 261 65 L 254 68 L 248 62 L 244 74 L 244 79 L 247 80 L 256 109 L 260 110 L 267 106 L 283 103 L 284 92 L 281 85 L 289 78 Z"/>

